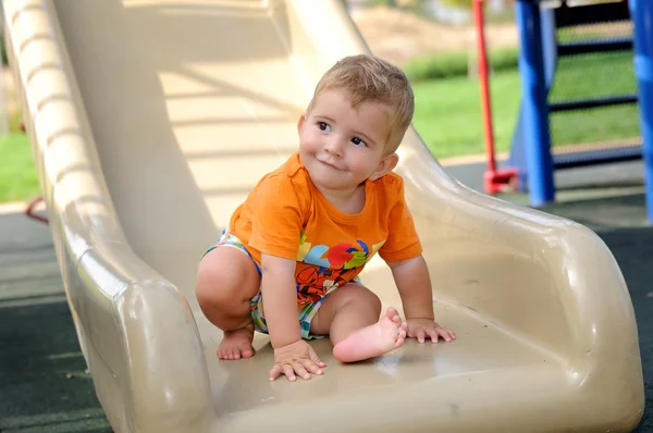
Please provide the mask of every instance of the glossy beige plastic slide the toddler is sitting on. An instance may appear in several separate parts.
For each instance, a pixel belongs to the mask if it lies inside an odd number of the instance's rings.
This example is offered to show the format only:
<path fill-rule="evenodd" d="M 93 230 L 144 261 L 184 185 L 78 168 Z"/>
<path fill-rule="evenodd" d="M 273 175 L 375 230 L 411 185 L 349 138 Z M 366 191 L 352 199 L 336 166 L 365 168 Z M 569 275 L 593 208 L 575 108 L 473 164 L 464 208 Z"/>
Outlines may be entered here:
<path fill-rule="evenodd" d="M 61 275 L 115 432 L 629 431 L 638 334 L 590 230 L 475 193 L 415 131 L 397 172 L 452 344 L 409 341 L 268 382 L 273 351 L 219 361 L 194 296 L 232 210 L 297 148 L 321 74 L 367 52 L 338 0 L 11 0 L 9 55 Z M 446 98 L 446 95 L 442 95 Z M 362 282 L 401 307 L 384 263 Z"/>

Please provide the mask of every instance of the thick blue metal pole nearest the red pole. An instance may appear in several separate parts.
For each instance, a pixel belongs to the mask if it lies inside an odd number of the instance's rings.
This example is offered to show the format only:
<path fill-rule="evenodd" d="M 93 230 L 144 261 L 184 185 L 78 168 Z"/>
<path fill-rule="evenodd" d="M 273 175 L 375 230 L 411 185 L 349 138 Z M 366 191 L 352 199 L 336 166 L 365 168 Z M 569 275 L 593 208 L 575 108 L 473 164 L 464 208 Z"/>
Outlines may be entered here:
<path fill-rule="evenodd" d="M 517 0 L 515 20 L 519 30 L 523 139 L 531 206 L 555 199 L 553 157 L 549 133 L 549 104 L 542 51 L 539 0 Z"/>

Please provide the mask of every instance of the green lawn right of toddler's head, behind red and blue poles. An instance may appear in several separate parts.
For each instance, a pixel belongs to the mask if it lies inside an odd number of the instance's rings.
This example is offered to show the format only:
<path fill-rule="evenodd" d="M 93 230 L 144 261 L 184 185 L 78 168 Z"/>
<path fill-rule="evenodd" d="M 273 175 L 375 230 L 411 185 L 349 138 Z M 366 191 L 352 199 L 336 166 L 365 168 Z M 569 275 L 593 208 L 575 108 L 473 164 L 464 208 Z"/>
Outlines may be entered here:
<path fill-rule="evenodd" d="M 484 151 L 479 82 L 467 77 L 414 84 L 415 125 L 438 158 Z M 517 70 L 491 77 L 495 147 L 507 151 L 519 109 Z M 632 55 L 628 52 L 562 59 L 550 100 L 636 92 Z M 554 146 L 605 141 L 639 135 L 637 106 L 609 107 L 551 115 Z"/>

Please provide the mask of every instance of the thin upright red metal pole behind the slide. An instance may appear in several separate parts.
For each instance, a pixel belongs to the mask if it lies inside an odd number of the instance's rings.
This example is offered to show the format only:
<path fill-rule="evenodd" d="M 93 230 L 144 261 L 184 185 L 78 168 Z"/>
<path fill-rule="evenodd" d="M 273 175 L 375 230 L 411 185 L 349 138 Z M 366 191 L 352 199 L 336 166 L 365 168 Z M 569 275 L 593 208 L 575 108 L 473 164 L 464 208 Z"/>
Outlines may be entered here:
<path fill-rule="evenodd" d="M 494 159 L 494 132 L 492 131 L 492 107 L 490 103 L 490 86 L 488 81 L 488 51 L 485 49 L 485 32 L 483 28 L 483 0 L 473 0 L 473 20 L 478 41 L 479 81 L 481 86 L 481 109 L 485 134 L 485 152 L 488 153 L 488 170 L 494 173 L 496 171 L 496 161 Z"/>

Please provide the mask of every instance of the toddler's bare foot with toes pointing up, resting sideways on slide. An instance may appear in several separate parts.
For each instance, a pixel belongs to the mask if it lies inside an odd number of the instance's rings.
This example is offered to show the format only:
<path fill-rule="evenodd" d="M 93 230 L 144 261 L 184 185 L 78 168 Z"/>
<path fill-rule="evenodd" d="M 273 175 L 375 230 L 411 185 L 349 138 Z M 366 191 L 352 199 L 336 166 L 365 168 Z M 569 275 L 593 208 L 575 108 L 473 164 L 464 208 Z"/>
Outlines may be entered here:
<path fill-rule="evenodd" d="M 355 331 L 337 343 L 333 356 L 341 362 L 356 362 L 386 354 L 402 347 L 407 326 L 397 310 L 390 307 L 378 323 Z"/>

